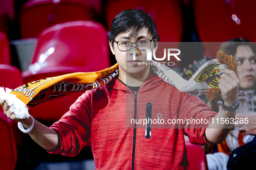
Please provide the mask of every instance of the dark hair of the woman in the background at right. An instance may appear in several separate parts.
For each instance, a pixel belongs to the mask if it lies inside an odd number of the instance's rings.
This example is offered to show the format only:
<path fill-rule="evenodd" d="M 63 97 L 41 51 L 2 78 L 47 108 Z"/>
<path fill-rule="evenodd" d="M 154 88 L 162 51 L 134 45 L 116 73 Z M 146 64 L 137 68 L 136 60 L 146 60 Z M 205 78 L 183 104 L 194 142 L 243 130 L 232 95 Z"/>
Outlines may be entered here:
<path fill-rule="evenodd" d="M 232 55 L 234 57 L 237 52 L 237 47 L 240 45 L 248 45 L 253 50 L 253 53 L 256 54 L 255 45 L 245 38 L 234 38 L 226 41 L 220 45 L 219 51 L 224 51 L 225 54 Z"/>

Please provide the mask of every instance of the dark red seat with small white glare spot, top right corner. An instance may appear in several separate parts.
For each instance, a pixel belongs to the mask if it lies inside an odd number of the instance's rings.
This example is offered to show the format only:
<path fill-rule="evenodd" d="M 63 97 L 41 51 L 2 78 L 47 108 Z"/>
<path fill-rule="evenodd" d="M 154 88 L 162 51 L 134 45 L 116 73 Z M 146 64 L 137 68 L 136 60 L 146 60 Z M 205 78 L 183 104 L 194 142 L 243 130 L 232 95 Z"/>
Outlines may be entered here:
<path fill-rule="evenodd" d="M 212 58 L 221 42 L 232 38 L 256 41 L 255 0 L 194 0 L 195 25 L 203 42 L 220 42 L 214 47 L 205 45 Z"/>

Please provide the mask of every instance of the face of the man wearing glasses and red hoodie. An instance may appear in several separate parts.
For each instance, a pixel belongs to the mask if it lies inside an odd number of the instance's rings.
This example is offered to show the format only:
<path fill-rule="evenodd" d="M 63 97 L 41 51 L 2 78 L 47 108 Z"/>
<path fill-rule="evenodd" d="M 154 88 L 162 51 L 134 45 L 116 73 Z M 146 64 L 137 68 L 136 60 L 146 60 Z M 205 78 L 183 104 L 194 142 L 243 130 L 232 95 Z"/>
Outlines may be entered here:
<path fill-rule="evenodd" d="M 148 29 L 142 28 L 139 31 L 139 34 L 136 37 L 129 37 L 130 32 L 124 32 L 120 35 L 117 35 L 115 41 L 131 41 L 137 42 L 141 40 L 152 40 L 152 36 L 149 33 Z M 133 43 L 132 48 L 137 47 L 135 43 Z M 149 63 L 151 60 L 147 60 L 146 50 L 140 50 L 142 55 L 139 55 L 135 50 L 130 49 L 129 51 L 120 51 L 117 47 L 117 43 L 114 42 L 113 48 L 110 43 L 110 48 L 112 53 L 115 55 L 117 63 L 119 65 L 119 71 L 130 73 L 130 74 L 137 74 L 142 72 L 147 72 L 150 69 Z M 150 50 L 153 54 L 154 42 L 152 41 L 150 44 Z M 134 48 L 136 49 L 136 48 Z M 136 58 L 133 60 L 133 53 L 135 52 Z M 152 56 L 151 56 L 152 58 Z M 138 65 L 139 62 L 143 62 L 145 64 Z M 147 63 L 147 65 L 146 65 Z"/>

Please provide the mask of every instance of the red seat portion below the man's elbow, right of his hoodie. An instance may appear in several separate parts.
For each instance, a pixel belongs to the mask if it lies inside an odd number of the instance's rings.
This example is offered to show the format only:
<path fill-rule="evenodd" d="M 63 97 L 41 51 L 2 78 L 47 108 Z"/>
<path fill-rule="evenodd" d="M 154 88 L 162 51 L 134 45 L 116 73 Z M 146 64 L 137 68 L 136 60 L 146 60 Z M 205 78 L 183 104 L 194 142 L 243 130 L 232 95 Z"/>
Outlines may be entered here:
<path fill-rule="evenodd" d="M 187 157 L 190 170 L 207 170 L 207 162 L 204 149 L 199 145 L 193 145 L 186 141 Z"/>

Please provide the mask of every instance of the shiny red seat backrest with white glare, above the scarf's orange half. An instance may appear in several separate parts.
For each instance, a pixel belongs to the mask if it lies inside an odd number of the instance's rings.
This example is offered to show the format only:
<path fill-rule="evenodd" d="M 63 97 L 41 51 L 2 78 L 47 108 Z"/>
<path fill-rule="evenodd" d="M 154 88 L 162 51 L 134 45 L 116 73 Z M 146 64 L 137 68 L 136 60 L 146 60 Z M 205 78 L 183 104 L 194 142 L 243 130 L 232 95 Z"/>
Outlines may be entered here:
<path fill-rule="evenodd" d="M 32 64 L 23 72 L 23 78 L 24 83 L 28 83 L 37 80 L 40 74 L 59 76 L 95 72 L 109 66 L 109 45 L 104 27 L 92 21 L 66 22 L 41 32 Z"/>

